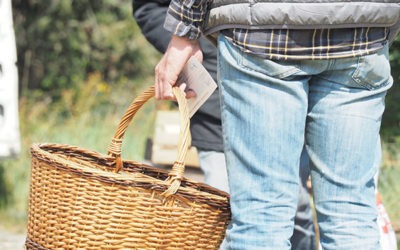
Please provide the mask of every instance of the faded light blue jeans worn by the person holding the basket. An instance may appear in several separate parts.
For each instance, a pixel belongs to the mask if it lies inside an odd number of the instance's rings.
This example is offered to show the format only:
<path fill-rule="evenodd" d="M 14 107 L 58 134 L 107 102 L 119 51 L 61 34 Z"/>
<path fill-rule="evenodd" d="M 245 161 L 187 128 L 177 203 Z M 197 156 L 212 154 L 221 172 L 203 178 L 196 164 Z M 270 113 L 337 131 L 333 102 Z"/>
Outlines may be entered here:
<path fill-rule="evenodd" d="M 271 61 L 218 41 L 229 249 L 290 249 L 303 144 L 321 244 L 379 249 L 374 165 L 388 48 L 336 60 Z"/>

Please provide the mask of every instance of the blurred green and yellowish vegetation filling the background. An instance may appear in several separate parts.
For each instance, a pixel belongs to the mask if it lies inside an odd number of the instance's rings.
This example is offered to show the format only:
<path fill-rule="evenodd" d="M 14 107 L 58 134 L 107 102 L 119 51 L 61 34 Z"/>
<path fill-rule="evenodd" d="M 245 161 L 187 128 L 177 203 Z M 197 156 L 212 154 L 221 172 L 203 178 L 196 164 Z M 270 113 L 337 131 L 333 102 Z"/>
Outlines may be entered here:
<path fill-rule="evenodd" d="M 22 153 L 0 161 L 0 221 L 23 231 L 34 142 L 106 153 L 131 100 L 153 83 L 160 58 L 135 24 L 129 0 L 13 0 L 20 82 Z M 379 191 L 400 230 L 400 38 L 391 47 L 394 87 L 382 124 Z M 124 158 L 144 157 L 155 101 L 135 117 Z"/>

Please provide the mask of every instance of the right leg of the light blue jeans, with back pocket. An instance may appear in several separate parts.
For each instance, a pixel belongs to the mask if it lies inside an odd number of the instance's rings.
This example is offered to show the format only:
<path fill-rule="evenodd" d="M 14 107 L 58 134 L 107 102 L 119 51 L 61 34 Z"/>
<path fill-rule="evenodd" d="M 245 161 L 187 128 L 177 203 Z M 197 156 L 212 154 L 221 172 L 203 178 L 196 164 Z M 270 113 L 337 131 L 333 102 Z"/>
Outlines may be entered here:
<path fill-rule="evenodd" d="M 309 85 L 306 148 L 323 249 L 379 249 L 374 175 L 387 48 L 331 61 Z"/>

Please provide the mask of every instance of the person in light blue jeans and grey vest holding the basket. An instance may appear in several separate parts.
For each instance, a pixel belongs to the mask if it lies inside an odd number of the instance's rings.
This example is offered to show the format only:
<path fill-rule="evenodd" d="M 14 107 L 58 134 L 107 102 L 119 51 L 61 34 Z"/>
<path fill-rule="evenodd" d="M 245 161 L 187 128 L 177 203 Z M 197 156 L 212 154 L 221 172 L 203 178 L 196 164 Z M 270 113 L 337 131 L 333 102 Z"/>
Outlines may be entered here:
<path fill-rule="evenodd" d="M 290 249 L 305 145 L 322 248 L 380 249 L 374 152 L 399 12 L 383 0 L 171 1 L 155 95 L 174 99 L 202 33 L 217 42 L 227 248 Z"/>

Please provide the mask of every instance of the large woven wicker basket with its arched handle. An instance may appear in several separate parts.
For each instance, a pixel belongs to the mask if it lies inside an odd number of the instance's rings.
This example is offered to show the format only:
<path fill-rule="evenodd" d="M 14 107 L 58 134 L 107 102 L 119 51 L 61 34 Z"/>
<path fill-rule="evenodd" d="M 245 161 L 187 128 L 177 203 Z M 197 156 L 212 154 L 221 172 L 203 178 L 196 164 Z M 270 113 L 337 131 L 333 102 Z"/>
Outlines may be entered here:
<path fill-rule="evenodd" d="M 178 158 L 170 172 L 121 160 L 121 143 L 151 87 L 122 117 L 108 155 L 63 144 L 34 144 L 27 249 L 218 249 L 229 196 L 182 177 L 189 146 L 183 93 Z"/>

